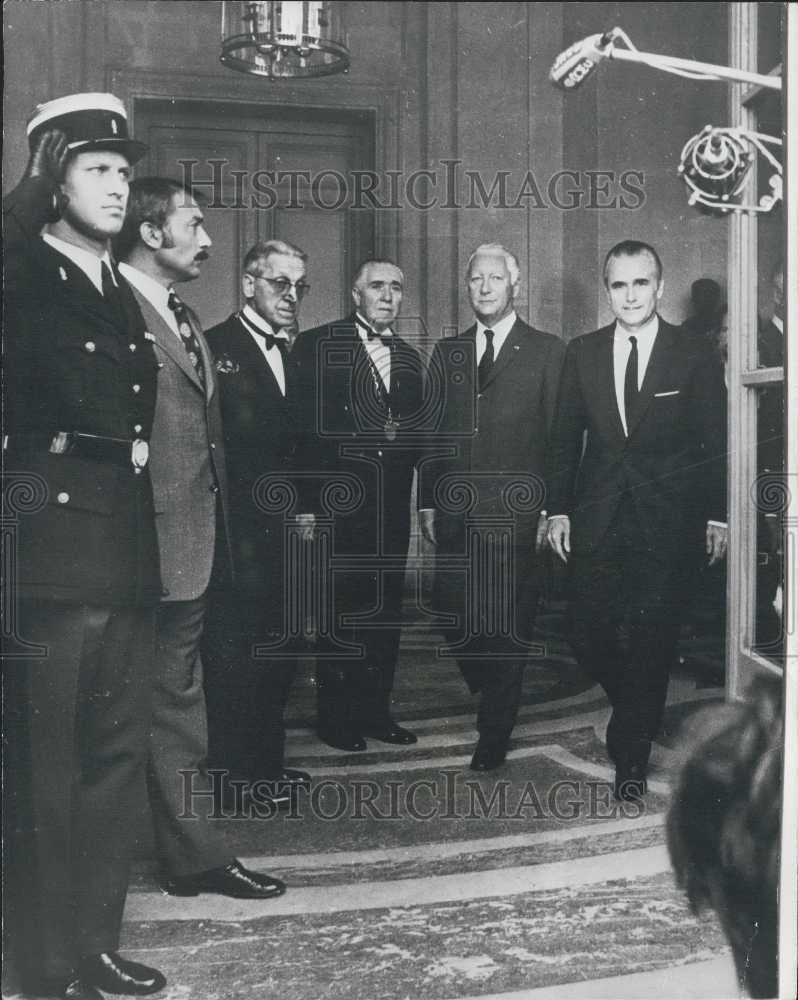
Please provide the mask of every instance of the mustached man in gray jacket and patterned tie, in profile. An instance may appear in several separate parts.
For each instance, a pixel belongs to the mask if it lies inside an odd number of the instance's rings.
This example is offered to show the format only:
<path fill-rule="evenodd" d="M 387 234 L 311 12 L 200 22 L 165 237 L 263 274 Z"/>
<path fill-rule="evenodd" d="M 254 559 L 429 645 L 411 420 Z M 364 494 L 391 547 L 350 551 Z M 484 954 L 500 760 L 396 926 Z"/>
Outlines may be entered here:
<path fill-rule="evenodd" d="M 161 177 L 130 185 L 116 246 L 160 369 L 151 447 L 163 591 L 156 618 L 147 785 L 164 892 L 268 899 L 281 895 L 285 886 L 231 858 L 201 808 L 180 818 L 186 811 L 186 783 L 199 790 L 207 756 L 200 639 L 214 554 L 225 558 L 228 533 L 211 356 L 196 316 L 173 286 L 199 276 L 210 245 L 202 210 L 190 191 Z"/>

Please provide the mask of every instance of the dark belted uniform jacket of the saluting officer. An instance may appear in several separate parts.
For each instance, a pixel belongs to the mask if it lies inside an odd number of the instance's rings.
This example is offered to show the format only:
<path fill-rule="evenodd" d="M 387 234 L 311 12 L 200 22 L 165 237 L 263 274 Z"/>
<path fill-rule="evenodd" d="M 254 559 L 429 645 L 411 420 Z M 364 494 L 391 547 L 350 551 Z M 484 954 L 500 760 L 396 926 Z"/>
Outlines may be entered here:
<path fill-rule="evenodd" d="M 3 202 L 6 496 L 25 508 L 17 593 L 148 604 L 161 596 L 152 488 L 131 443 L 149 440 L 156 358 L 127 284 L 120 315 L 40 238 L 52 193 L 25 179 Z M 59 434 L 71 437 L 53 448 Z"/>

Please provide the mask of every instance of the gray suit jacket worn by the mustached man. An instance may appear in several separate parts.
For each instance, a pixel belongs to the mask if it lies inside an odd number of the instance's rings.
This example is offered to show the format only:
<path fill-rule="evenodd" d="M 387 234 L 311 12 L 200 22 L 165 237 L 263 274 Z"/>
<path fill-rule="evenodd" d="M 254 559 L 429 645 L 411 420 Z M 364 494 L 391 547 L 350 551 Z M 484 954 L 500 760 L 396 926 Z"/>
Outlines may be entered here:
<path fill-rule="evenodd" d="M 191 318 L 202 352 L 204 390 L 179 337 L 138 289 L 133 288 L 133 294 L 147 330 L 155 338 L 160 366 L 149 465 L 163 599 L 190 601 L 208 588 L 217 528 L 226 529 L 227 524 L 227 475 L 216 373 L 195 316 Z"/>

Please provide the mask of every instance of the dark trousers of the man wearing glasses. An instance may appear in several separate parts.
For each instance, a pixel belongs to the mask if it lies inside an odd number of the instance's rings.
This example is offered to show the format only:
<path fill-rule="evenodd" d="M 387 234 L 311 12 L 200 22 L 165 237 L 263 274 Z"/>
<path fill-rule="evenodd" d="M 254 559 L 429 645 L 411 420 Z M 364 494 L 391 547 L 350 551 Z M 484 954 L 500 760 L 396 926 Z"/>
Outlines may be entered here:
<path fill-rule="evenodd" d="M 203 639 L 208 748 L 214 767 L 258 781 L 284 767 L 285 706 L 296 659 L 256 654 L 279 640 L 267 621 L 269 600 L 213 590 Z"/>

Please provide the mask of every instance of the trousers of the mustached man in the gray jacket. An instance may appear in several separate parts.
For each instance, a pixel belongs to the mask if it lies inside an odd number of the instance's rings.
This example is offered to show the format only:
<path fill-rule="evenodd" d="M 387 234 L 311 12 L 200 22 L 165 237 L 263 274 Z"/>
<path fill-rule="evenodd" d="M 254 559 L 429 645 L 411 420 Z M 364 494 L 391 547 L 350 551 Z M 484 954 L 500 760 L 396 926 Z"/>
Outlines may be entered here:
<path fill-rule="evenodd" d="M 187 802 L 187 789 L 207 791 L 208 723 L 199 649 L 204 615 L 203 596 L 164 602 L 156 617 L 147 788 L 158 862 L 169 875 L 191 875 L 231 860 L 203 804 Z M 180 818 L 188 812 L 190 817 Z"/>

